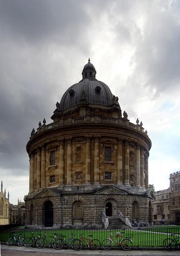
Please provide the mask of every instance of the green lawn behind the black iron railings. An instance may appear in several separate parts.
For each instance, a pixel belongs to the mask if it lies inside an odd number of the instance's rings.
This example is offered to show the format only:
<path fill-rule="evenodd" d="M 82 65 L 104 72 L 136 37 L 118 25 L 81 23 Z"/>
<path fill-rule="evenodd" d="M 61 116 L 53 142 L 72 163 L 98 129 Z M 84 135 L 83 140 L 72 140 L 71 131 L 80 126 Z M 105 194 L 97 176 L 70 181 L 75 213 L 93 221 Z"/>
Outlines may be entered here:
<path fill-rule="evenodd" d="M 104 239 L 110 237 L 110 230 L 105 229 L 14 229 L 14 230 L 2 230 L 0 233 L 1 242 L 6 242 L 7 238 L 12 236 L 12 233 L 16 235 L 21 234 L 22 237 L 31 237 L 32 231 L 34 232 L 33 236 L 38 237 L 40 234 L 41 237 L 44 237 L 44 232 L 46 231 L 48 243 L 52 240 L 54 236 L 53 233 L 57 233 L 58 237 L 65 236 L 65 239 L 73 237 L 80 239 L 81 234 L 83 237 L 89 238 L 92 235 L 93 239 L 98 239 L 102 242 Z M 113 230 L 114 236 L 116 232 L 121 230 Z M 131 238 L 133 241 L 133 247 L 163 247 L 163 241 L 166 238 L 171 237 L 171 233 L 180 233 L 179 226 L 158 226 L 158 227 L 149 227 L 142 229 L 125 229 L 123 231 L 123 237 Z M 119 243 L 120 237 L 114 237 L 114 240 Z"/>

